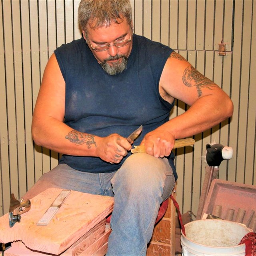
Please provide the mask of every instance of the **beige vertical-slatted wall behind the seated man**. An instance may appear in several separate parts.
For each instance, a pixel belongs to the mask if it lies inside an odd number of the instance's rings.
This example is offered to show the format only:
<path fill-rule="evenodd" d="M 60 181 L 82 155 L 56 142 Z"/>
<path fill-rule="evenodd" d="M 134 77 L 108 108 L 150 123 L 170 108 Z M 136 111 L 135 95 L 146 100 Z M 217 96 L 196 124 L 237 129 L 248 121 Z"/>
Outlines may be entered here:
<path fill-rule="evenodd" d="M 30 126 L 43 70 L 53 50 L 80 38 L 79 0 L 0 0 L 0 215 L 58 154 L 34 146 Z M 256 2 L 254 0 L 131 0 L 134 32 L 177 50 L 232 98 L 234 115 L 176 150 L 177 200 L 197 212 L 208 142 L 232 146 L 220 178 L 256 185 Z M 226 43 L 226 56 L 218 44 Z M 176 102 L 171 117 L 187 106 Z M 209 113 L 210 114 L 210 113 Z"/>

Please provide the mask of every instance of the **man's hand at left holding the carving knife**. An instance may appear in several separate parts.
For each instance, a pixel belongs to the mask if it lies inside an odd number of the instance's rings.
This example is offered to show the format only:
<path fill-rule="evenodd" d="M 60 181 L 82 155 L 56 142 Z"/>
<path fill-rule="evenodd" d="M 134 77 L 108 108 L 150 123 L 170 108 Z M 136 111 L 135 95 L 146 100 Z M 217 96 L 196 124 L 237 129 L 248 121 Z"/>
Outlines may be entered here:
<path fill-rule="evenodd" d="M 96 155 L 106 162 L 118 164 L 131 150 L 131 144 L 119 134 L 100 138 L 97 142 Z"/>

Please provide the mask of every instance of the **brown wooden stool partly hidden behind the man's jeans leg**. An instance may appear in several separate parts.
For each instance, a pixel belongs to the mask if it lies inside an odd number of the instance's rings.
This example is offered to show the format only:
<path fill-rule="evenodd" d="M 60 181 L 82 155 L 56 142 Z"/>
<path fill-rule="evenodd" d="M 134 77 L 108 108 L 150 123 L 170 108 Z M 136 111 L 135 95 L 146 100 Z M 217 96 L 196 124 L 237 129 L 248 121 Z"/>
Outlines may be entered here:
<path fill-rule="evenodd" d="M 176 198 L 176 189 L 172 192 Z M 163 218 L 154 227 L 153 235 L 148 244 L 146 256 L 174 256 L 175 255 L 175 216 L 176 208 L 168 199 L 168 208 Z"/>

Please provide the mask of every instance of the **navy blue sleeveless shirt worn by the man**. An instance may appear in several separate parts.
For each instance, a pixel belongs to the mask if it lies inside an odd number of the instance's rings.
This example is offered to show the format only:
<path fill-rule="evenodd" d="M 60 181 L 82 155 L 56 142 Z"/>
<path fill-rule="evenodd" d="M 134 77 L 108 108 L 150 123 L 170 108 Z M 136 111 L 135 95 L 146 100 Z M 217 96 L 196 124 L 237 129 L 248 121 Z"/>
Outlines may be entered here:
<path fill-rule="evenodd" d="M 84 38 L 63 44 L 54 53 L 66 83 L 64 122 L 79 132 L 100 137 L 118 133 L 125 138 L 143 125 L 142 134 L 134 142 L 139 145 L 146 133 L 169 120 L 173 104 L 162 99 L 158 84 L 172 51 L 134 34 L 126 70 L 110 76 Z M 113 172 L 129 155 L 119 164 L 109 164 L 97 157 L 64 154 L 59 163 L 82 172 Z M 173 152 L 168 159 L 177 178 Z"/>

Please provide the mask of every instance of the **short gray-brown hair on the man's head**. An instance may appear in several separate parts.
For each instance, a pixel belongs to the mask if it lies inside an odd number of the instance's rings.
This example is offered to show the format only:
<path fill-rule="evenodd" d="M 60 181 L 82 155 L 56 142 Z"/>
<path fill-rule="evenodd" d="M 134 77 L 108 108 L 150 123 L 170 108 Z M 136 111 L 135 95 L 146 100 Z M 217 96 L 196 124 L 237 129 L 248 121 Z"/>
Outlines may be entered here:
<path fill-rule="evenodd" d="M 132 7 L 130 0 L 82 0 L 78 8 L 78 21 L 82 30 L 110 26 L 118 23 L 118 18 L 126 18 L 132 27 Z"/>

